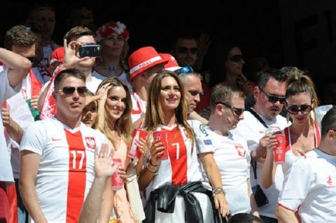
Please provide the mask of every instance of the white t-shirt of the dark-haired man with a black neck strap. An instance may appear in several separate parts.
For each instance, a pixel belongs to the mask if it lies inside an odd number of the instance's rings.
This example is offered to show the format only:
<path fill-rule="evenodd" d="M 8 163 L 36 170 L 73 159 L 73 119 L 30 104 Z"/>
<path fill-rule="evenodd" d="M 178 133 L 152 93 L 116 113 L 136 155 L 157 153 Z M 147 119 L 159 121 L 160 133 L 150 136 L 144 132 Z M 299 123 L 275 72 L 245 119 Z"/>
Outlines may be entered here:
<path fill-rule="evenodd" d="M 277 115 L 273 120 L 267 120 L 265 117 L 262 117 L 262 115 L 259 116 L 269 127 L 277 128 L 279 129 L 279 131 L 288 126 L 286 118 L 282 117 L 281 115 Z M 239 138 L 244 138 L 248 145 L 248 151 L 251 153 L 253 150 L 255 150 L 255 148 L 258 147 L 260 138 L 265 135 L 265 127 L 260 123 L 257 118 L 254 117 L 254 115 L 246 110 L 244 111 L 244 120 L 239 121 L 239 123 L 237 124 L 237 128 L 232 129 L 230 132 L 234 137 L 237 136 Z M 260 174 L 264 161 L 265 159 L 259 159 L 257 162 L 257 182 L 259 185 L 261 176 Z M 251 186 L 253 187 L 254 185 L 256 185 L 253 168 L 251 168 L 250 175 Z M 278 199 L 279 192 L 281 191 L 282 183 L 283 172 L 281 166 L 279 165 L 276 168 L 274 183 L 272 184 L 272 186 L 268 189 L 262 188 L 267 196 L 267 199 L 269 200 L 269 203 L 265 206 L 258 208 L 258 212 L 260 215 L 273 218 L 275 217 L 274 213 L 276 208 L 276 201 Z"/>

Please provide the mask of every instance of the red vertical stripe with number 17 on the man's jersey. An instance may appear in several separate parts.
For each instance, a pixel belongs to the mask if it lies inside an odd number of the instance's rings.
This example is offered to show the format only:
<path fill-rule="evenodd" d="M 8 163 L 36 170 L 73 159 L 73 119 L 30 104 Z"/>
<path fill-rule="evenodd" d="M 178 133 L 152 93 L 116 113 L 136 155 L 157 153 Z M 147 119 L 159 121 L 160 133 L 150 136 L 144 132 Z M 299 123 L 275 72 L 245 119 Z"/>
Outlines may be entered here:
<path fill-rule="evenodd" d="M 66 222 L 78 222 L 86 184 L 86 152 L 80 131 L 72 134 L 64 129 L 69 145 L 69 180 L 66 201 Z"/>

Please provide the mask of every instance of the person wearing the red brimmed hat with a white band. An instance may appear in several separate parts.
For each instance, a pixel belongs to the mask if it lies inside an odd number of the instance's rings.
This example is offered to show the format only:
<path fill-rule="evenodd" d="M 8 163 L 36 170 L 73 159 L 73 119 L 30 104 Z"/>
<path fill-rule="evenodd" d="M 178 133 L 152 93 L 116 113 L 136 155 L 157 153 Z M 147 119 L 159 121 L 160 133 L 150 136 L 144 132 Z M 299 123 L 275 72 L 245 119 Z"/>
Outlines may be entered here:
<path fill-rule="evenodd" d="M 162 59 L 151 46 L 139 48 L 128 58 L 130 81 L 132 84 L 132 122 L 144 119 L 147 106 L 148 89 L 155 75 L 161 72 L 167 59 Z"/>

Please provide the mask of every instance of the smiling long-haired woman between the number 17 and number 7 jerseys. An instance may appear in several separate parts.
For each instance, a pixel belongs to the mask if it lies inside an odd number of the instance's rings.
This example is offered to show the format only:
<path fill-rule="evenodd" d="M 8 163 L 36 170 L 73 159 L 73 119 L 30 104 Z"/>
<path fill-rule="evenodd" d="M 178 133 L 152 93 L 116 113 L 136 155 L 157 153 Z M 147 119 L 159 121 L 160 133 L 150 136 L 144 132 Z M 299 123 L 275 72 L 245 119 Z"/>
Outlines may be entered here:
<path fill-rule="evenodd" d="M 94 128 L 102 131 L 113 144 L 113 148 L 115 148 L 113 158 L 121 159 L 119 171 L 122 178 L 125 179 L 125 170 L 130 165 L 130 157 L 127 154 L 132 140 L 130 91 L 118 78 L 110 77 L 99 85 L 97 94 L 102 94 L 102 98 L 98 102 L 98 117 Z M 117 217 L 120 216 L 121 222 L 134 222 L 130 203 L 127 199 L 129 194 L 127 194 L 126 189 L 123 187 L 113 192 L 112 185 L 109 189 L 109 191 L 104 192 L 109 195 L 106 196 L 105 194 L 104 197 L 111 197 L 111 199 L 103 201 L 109 203 L 109 206 L 101 210 L 100 222 L 109 222 L 112 209 Z"/>

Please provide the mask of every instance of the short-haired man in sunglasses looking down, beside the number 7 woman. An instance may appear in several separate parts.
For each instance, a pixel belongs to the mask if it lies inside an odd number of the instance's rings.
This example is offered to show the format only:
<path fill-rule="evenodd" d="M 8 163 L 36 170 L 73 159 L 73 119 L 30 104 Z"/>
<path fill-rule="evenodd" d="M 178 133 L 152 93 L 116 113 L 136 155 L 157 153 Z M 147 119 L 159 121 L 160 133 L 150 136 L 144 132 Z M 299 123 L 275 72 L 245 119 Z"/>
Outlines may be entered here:
<path fill-rule="evenodd" d="M 244 119 L 244 97 L 244 93 L 237 89 L 216 85 L 210 99 L 209 122 L 194 128 L 194 131 L 203 162 L 206 164 L 212 159 L 218 166 L 230 213 L 253 213 L 259 217 L 249 179 L 250 156 L 246 141 L 234 138 L 229 132 Z M 207 168 L 207 175 L 211 176 L 208 169 L 211 173 L 213 168 Z M 211 189 L 212 183 L 209 184 L 207 177 L 203 182 L 207 189 Z"/>

